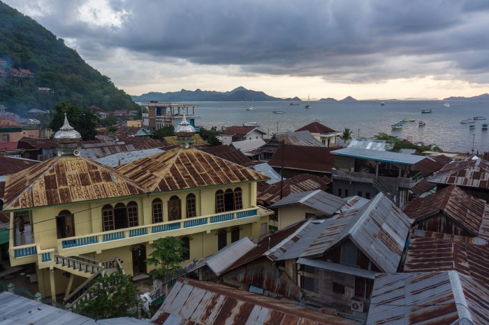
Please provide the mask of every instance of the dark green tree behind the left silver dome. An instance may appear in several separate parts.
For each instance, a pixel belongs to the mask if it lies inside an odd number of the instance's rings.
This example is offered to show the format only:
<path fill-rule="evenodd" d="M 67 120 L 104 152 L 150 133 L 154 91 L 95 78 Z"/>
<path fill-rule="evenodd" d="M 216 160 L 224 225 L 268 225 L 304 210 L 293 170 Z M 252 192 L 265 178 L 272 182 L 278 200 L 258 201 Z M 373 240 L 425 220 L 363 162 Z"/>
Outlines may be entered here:
<path fill-rule="evenodd" d="M 56 132 L 63 126 L 64 108 L 66 108 L 68 122 L 70 122 L 70 125 L 76 131 L 80 132 L 82 139 L 94 140 L 97 134 L 96 126 L 98 124 L 98 117 L 89 110 L 84 110 L 71 104 L 59 103 L 57 106 L 54 106 L 49 128 Z"/>

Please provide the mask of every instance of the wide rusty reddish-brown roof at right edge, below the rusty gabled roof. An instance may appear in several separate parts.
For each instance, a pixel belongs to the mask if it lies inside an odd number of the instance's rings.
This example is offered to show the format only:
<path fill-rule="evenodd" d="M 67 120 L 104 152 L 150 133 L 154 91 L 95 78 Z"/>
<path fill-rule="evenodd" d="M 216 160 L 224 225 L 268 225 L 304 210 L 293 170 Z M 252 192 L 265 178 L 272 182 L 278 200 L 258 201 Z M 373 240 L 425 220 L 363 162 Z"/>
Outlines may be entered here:
<path fill-rule="evenodd" d="M 472 245 L 429 237 L 411 236 L 404 272 L 458 270 L 483 283 L 489 282 L 489 250 Z"/>

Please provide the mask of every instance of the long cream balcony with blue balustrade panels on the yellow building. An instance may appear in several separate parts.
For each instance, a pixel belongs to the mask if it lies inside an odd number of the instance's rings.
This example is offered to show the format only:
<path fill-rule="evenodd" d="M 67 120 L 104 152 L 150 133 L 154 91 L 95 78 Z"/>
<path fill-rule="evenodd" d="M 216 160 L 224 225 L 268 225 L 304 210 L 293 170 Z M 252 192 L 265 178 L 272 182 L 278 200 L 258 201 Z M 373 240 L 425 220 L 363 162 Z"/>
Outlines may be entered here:
<path fill-rule="evenodd" d="M 85 236 L 62 238 L 57 241 L 57 247 L 50 247 L 44 250 L 41 250 L 38 243 L 15 246 L 10 247 L 10 262 L 12 265 L 20 265 L 37 261 L 39 268 L 43 268 L 52 264 L 55 251 L 65 257 L 90 252 L 100 253 L 102 250 L 145 243 L 163 236 L 184 236 L 203 231 L 210 232 L 226 226 L 258 222 L 261 217 L 272 213 L 272 211 L 265 208 L 255 207 L 172 222 L 90 233 Z"/>

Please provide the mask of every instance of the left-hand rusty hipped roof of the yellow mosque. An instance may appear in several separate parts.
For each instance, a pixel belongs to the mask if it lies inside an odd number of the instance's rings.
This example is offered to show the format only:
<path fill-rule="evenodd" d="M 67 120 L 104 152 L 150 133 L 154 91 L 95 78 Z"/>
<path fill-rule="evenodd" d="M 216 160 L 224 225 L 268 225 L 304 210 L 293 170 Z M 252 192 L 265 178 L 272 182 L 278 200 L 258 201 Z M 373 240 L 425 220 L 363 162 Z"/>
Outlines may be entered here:
<path fill-rule="evenodd" d="M 99 200 L 145 193 L 115 169 L 76 156 L 54 157 L 10 175 L 4 210 Z"/>

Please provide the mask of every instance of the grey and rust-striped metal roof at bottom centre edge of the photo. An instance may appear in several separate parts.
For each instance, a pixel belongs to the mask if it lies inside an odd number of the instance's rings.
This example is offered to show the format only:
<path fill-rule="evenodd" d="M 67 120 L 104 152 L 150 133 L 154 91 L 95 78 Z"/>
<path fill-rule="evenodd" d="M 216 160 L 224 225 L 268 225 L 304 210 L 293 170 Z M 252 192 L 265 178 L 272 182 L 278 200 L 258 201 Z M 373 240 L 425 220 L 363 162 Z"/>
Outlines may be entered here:
<path fill-rule="evenodd" d="M 152 318 L 159 325 L 356 324 L 292 303 L 210 282 L 179 279 Z M 357 323 L 358 324 L 358 323 Z"/>

